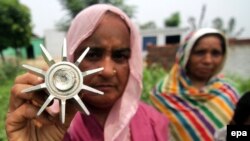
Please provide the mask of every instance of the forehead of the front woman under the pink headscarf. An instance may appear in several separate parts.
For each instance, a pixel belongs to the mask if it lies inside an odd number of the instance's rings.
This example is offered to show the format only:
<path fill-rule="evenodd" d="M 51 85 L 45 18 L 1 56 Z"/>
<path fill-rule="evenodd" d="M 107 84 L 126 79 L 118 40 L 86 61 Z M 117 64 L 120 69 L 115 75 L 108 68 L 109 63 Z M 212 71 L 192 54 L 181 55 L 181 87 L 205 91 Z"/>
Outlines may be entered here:
<path fill-rule="evenodd" d="M 130 32 L 126 22 L 119 15 L 106 12 L 92 35 L 78 46 L 75 53 L 88 46 L 107 50 L 129 48 Z"/>

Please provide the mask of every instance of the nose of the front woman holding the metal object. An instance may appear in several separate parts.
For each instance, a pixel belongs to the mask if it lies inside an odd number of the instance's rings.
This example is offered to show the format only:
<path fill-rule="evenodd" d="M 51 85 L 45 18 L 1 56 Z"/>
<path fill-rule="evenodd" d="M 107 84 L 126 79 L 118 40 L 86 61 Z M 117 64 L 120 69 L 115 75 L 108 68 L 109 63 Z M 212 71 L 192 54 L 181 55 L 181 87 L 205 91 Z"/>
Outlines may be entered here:
<path fill-rule="evenodd" d="M 102 61 L 101 66 L 104 68 L 101 72 L 103 77 L 112 77 L 114 76 L 115 64 L 114 61 L 110 57 L 105 57 Z"/>

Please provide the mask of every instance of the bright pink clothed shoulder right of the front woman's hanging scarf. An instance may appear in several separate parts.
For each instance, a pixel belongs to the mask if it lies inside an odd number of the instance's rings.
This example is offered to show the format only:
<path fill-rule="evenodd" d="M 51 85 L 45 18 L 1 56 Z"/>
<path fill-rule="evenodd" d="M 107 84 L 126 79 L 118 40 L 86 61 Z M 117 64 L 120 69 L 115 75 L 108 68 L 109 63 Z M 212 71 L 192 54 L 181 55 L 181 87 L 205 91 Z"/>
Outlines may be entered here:
<path fill-rule="evenodd" d="M 166 141 L 169 137 L 168 124 L 169 121 L 163 114 L 152 106 L 140 102 L 130 127 L 132 136 L 140 140 Z"/>

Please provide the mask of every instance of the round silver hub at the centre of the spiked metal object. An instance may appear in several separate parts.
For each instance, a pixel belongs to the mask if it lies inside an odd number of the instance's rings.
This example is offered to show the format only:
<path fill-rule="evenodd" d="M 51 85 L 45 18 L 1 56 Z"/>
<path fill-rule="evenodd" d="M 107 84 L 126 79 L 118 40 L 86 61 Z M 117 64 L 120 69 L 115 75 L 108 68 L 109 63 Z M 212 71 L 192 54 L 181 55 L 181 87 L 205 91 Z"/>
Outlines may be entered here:
<path fill-rule="evenodd" d="M 59 99 L 70 99 L 82 89 L 83 75 L 70 62 L 58 62 L 52 65 L 45 75 L 45 84 L 51 95 Z"/>

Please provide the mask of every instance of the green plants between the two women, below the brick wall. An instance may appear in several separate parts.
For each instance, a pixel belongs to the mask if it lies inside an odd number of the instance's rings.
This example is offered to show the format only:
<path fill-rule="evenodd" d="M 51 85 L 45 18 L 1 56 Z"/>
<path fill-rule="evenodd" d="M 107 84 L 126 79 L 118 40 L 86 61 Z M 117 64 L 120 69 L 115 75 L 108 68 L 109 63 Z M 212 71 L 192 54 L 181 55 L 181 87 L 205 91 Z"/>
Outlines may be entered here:
<path fill-rule="evenodd" d="M 150 92 L 157 82 L 166 75 L 163 67 L 156 65 L 144 68 L 143 70 L 143 91 L 141 99 L 147 103 L 151 103 L 149 99 Z"/>

